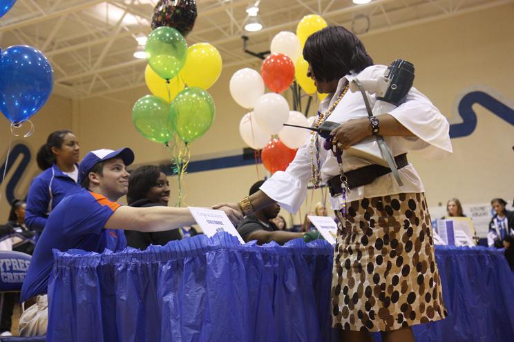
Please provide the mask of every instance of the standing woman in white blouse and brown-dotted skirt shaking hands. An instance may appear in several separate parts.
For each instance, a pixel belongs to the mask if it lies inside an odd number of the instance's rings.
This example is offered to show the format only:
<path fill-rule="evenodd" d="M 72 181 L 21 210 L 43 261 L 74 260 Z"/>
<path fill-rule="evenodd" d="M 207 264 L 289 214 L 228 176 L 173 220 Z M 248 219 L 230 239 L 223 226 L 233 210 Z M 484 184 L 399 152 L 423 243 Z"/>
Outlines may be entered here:
<path fill-rule="evenodd" d="M 312 34 L 303 57 L 309 62 L 307 76 L 314 79 L 318 92 L 329 94 L 320 105 L 315 125 L 325 120 L 341 123 L 332 132 L 332 143 L 343 151 L 378 130 L 395 157 L 403 185 L 390 170 L 370 172 L 372 161 L 355 155 L 343 153 L 339 165 L 334 154 L 323 148 L 323 139 L 313 133 L 285 172 L 276 172 L 260 191 L 233 208 L 249 214 L 276 201 L 296 212 L 309 182 L 316 186 L 333 177 L 339 179 L 341 166 L 345 175 L 354 171 L 346 209 L 341 210 L 335 198 L 331 202 L 340 221 L 332 278 L 332 326 L 341 330 L 343 341 L 371 341 L 374 331 L 382 332 L 384 341 L 414 341 L 410 326 L 444 319 L 446 310 L 423 183 L 406 154 L 410 150 L 429 157 L 450 154 L 448 121 L 430 100 L 411 88 L 397 108 L 378 115 L 378 124 L 372 124 L 362 95 L 348 91 L 348 86 L 356 78 L 376 79 L 386 68 L 374 66 L 361 41 L 341 26 Z M 375 101 L 370 96 L 372 106 Z M 368 181 L 362 179 L 363 174 Z"/>

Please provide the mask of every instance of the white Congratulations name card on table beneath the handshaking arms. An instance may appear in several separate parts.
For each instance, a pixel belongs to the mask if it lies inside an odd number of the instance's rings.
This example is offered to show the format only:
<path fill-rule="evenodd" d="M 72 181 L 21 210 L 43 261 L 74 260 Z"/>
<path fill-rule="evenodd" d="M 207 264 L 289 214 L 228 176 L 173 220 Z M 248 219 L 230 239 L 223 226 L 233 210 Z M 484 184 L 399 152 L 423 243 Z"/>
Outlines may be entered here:
<path fill-rule="evenodd" d="M 237 237 L 242 245 L 245 244 L 245 241 L 223 210 L 189 207 L 189 211 L 207 237 L 213 237 L 217 232 L 227 232 Z"/>

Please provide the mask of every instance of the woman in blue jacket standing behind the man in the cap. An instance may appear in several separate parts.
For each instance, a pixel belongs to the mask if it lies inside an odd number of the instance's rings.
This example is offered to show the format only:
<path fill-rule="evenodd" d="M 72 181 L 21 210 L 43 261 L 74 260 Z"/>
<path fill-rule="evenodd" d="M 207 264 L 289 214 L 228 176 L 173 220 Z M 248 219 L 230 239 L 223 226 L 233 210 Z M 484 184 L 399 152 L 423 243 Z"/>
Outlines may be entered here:
<path fill-rule="evenodd" d="M 41 234 L 50 212 L 59 202 L 79 192 L 79 142 L 70 130 L 56 130 L 37 152 L 37 165 L 43 172 L 28 189 L 25 223 L 30 230 Z"/>

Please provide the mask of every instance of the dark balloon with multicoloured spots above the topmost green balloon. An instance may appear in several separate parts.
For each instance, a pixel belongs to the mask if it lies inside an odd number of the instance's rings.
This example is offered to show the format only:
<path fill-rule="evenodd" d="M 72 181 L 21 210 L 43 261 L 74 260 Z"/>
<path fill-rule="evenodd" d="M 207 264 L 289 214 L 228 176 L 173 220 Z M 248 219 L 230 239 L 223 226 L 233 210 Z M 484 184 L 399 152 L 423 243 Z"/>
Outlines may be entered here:
<path fill-rule="evenodd" d="M 153 10 L 152 30 L 168 26 L 186 37 L 193 30 L 197 15 L 195 0 L 159 0 Z"/>

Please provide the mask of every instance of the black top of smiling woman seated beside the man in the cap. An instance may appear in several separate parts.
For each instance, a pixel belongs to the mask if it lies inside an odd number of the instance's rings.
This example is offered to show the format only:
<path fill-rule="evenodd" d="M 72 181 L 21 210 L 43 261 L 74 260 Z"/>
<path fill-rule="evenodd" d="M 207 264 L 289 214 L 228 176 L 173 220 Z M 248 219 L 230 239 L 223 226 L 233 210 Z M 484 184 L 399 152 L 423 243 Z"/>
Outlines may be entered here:
<path fill-rule="evenodd" d="M 161 203 L 153 203 L 149 199 L 140 199 L 130 204 L 131 207 L 163 207 Z M 136 230 L 125 230 L 126 244 L 146 250 L 149 245 L 166 245 L 168 241 L 180 240 L 178 229 L 166 230 L 164 232 L 137 232 Z"/>

